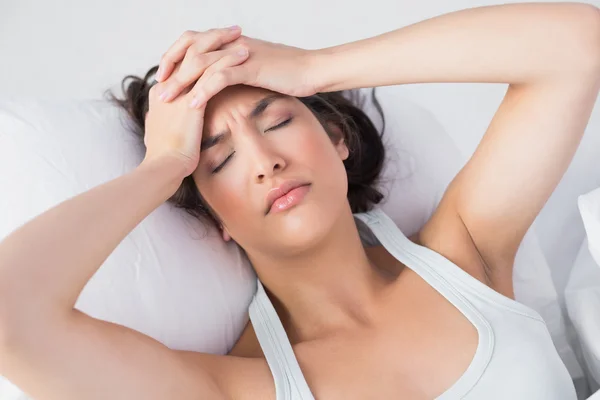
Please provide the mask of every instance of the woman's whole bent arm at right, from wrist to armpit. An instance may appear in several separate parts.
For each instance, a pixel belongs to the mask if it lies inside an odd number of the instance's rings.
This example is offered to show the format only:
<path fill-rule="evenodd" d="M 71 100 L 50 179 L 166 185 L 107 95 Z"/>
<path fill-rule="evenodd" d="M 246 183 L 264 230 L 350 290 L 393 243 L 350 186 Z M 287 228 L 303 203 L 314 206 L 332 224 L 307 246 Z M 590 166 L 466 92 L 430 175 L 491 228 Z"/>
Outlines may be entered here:
<path fill-rule="evenodd" d="M 459 244 L 471 241 L 483 265 L 468 272 L 512 297 L 519 245 L 569 166 L 598 97 L 600 10 L 584 3 L 471 8 L 318 54 L 313 75 L 325 91 L 509 84 L 422 238 L 445 243 L 436 250 L 456 259 Z"/>

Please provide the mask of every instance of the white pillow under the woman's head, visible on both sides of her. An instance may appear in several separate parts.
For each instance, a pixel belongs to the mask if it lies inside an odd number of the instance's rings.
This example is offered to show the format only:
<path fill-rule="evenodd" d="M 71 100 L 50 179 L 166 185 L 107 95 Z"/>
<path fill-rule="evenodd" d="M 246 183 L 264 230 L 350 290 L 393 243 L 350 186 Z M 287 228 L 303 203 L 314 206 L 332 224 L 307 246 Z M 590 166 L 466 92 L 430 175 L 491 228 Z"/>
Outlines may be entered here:
<path fill-rule="evenodd" d="M 378 92 L 390 149 L 383 209 L 412 235 L 466 160 L 431 113 L 401 95 L 401 87 Z M 372 105 L 365 108 L 381 126 Z M 143 148 L 126 121 L 105 101 L 0 101 L 0 210 L 9 210 L 0 215 L 0 240 L 51 206 L 135 168 Z M 523 251 L 541 254 L 537 243 L 524 244 Z M 540 291 L 551 285 L 547 266 L 516 267 L 532 268 L 544 273 L 536 282 L 515 281 L 517 292 L 529 293 L 530 304 L 542 304 L 538 312 L 553 318 L 556 299 Z M 225 354 L 247 322 L 254 290 L 253 271 L 235 244 L 165 203 L 119 244 L 76 307 L 174 349 Z M 14 388 L 0 378 L 0 398 L 19 398 L 9 390 Z"/>

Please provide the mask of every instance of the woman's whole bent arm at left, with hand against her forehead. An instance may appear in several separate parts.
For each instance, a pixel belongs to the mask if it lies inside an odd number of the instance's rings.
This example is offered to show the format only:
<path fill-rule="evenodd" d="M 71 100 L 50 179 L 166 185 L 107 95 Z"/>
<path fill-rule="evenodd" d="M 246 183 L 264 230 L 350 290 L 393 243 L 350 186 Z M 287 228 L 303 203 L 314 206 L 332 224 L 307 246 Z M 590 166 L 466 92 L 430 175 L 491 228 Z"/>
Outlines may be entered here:
<path fill-rule="evenodd" d="M 150 90 L 144 161 L 0 243 L 0 375 L 39 400 L 223 398 L 210 355 L 170 350 L 74 309 L 116 246 L 197 166 L 204 110 Z M 214 356 L 216 357 L 216 356 Z M 223 385 L 221 385 L 223 386 Z"/>

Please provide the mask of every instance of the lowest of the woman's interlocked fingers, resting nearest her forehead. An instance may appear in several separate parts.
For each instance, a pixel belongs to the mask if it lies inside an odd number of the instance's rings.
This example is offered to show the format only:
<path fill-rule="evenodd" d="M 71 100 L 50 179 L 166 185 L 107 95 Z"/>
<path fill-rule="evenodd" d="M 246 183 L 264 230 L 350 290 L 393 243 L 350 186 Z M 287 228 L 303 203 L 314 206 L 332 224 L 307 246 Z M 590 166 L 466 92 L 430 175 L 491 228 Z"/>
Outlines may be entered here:
<path fill-rule="evenodd" d="M 192 98 L 190 107 L 202 107 L 211 97 L 225 89 L 225 87 L 247 81 L 248 70 L 244 64 L 237 65 L 228 57 L 224 57 L 213 64 L 194 85 L 189 93 Z"/>

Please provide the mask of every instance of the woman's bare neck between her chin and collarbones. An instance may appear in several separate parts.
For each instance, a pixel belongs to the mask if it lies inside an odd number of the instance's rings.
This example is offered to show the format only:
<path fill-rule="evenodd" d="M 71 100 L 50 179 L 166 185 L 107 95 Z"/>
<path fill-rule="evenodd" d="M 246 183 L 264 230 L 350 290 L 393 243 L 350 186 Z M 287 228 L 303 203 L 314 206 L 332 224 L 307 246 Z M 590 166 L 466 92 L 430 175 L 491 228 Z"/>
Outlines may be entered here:
<path fill-rule="evenodd" d="M 386 279 L 367 257 L 349 207 L 315 247 L 286 258 L 248 257 L 292 343 L 373 322 Z"/>

